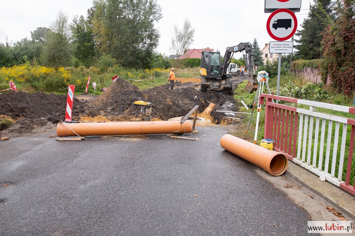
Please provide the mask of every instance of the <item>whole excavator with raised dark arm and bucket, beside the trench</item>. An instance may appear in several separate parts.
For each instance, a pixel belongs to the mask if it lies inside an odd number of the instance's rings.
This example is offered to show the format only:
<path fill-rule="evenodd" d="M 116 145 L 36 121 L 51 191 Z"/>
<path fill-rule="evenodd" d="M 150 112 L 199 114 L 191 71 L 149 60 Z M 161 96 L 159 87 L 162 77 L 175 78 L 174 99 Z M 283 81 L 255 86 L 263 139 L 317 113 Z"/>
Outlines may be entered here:
<path fill-rule="evenodd" d="M 221 62 L 220 52 L 202 51 L 200 76 L 201 78 L 201 92 L 207 90 L 224 91 L 230 94 L 233 91 L 232 81 L 230 78 L 232 74 L 229 73 L 229 63 L 233 58 L 235 52 L 243 52 L 243 57 L 248 71 L 249 81 L 245 90 L 248 92 L 256 91 L 258 85 L 256 81 L 256 74 L 254 69 L 252 46 L 250 42 L 241 42 L 237 46 L 227 47 L 224 53 L 223 62 Z"/>

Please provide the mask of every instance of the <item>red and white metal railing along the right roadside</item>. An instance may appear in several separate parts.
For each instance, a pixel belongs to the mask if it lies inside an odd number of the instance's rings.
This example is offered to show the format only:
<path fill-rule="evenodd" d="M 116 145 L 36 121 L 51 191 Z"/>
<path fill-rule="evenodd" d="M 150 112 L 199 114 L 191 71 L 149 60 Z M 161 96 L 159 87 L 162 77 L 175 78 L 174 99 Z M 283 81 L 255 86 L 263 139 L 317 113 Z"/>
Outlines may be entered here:
<path fill-rule="evenodd" d="M 320 180 L 355 195 L 355 119 L 316 111 L 324 108 L 355 114 L 355 108 L 269 94 L 260 95 L 261 105 L 264 98 L 264 138 L 275 140 L 274 150 L 315 173 Z M 273 103 L 272 99 L 308 105 L 309 110 Z"/>

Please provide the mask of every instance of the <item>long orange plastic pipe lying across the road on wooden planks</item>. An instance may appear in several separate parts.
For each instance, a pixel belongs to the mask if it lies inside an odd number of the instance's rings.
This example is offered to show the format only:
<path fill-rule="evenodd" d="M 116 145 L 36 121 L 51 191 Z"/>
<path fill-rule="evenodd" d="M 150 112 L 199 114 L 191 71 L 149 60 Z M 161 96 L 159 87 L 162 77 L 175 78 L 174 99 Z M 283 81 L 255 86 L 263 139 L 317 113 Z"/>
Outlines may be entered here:
<path fill-rule="evenodd" d="M 165 134 L 191 133 L 192 122 L 185 121 L 144 121 L 144 122 L 106 122 L 106 123 L 58 123 L 58 137 L 127 134 Z"/>

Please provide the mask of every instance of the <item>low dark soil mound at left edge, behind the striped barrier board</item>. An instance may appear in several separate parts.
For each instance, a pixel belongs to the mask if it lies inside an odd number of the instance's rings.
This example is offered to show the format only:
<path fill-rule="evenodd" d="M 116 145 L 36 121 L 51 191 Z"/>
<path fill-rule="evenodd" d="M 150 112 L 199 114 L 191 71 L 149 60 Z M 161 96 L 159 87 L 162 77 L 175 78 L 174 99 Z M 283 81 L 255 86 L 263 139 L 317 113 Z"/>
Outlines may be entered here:
<path fill-rule="evenodd" d="M 24 117 L 35 120 L 44 118 L 50 122 L 60 121 L 65 117 L 66 98 L 66 95 L 53 93 L 10 91 L 0 95 L 0 115 L 13 119 Z M 84 107 L 84 102 L 74 99 L 72 116 L 82 114 Z"/>

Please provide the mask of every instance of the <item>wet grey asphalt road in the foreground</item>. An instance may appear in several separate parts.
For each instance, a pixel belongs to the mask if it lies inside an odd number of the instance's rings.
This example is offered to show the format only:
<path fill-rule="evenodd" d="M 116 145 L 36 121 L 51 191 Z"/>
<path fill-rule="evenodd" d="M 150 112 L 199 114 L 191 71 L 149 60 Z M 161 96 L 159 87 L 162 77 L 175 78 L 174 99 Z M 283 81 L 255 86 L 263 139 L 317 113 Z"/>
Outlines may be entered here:
<path fill-rule="evenodd" d="M 307 234 L 307 212 L 220 147 L 226 126 L 198 130 L 0 141 L 0 235 Z"/>

